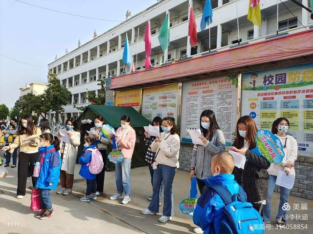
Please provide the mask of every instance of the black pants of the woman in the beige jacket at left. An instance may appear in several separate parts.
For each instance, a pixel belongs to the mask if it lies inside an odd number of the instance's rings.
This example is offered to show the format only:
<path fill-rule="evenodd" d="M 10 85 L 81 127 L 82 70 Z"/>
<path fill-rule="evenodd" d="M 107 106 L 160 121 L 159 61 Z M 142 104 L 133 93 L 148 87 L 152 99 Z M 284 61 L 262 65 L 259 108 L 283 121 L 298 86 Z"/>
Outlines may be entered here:
<path fill-rule="evenodd" d="M 38 160 L 38 152 L 32 154 L 26 154 L 20 152 L 19 164 L 18 164 L 18 189 L 17 195 L 26 194 L 26 180 L 28 176 L 32 176 L 34 172 L 34 163 Z M 31 177 L 33 187 L 36 187 L 37 177 Z"/>

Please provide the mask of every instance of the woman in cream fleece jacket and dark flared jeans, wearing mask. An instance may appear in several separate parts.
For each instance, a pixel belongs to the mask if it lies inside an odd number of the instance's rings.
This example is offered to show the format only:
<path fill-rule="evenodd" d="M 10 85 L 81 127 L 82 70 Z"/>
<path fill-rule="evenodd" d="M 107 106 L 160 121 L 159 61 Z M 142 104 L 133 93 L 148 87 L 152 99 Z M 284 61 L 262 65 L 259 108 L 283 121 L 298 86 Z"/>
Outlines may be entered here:
<path fill-rule="evenodd" d="M 159 211 L 160 186 L 164 183 L 163 215 L 158 219 L 166 223 L 174 215 L 174 200 L 172 185 L 177 168 L 179 168 L 179 130 L 175 124 L 175 118 L 165 117 L 162 120 L 161 137 L 156 137 L 151 144 L 151 150 L 156 152 L 157 169 L 153 175 L 153 195 L 149 207 L 141 211 L 143 215 L 156 215 Z"/>

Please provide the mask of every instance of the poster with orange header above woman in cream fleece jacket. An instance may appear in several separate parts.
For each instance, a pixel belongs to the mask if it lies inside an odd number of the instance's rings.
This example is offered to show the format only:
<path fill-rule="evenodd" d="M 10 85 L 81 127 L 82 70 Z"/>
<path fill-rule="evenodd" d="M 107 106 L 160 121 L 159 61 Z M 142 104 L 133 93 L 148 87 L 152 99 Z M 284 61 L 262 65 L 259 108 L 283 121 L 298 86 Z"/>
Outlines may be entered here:
<path fill-rule="evenodd" d="M 178 117 L 178 84 L 162 85 L 143 89 L 141 115 L 152 121 L 161 118 Z"/>

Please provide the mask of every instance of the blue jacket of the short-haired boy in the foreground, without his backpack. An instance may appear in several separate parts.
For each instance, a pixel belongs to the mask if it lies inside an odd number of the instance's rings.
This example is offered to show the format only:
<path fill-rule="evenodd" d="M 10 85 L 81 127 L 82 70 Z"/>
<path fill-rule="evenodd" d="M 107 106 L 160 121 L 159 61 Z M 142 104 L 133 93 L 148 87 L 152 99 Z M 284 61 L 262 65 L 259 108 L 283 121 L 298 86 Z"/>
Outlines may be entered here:
<path fill-rule="evenodd" d="M 221 174 L 203 179 L 207 186 L 220 184 L 225 187 L 231 195 L 239 192 L 239 184 L 232 174 Z M 223 217 L 224 202 L 220 195 L 214 190 L 207 189 L 198 199 L 194 211 L 194 223 L 201 227 L 204 234 L 219 233 L 219 225 Z"/>

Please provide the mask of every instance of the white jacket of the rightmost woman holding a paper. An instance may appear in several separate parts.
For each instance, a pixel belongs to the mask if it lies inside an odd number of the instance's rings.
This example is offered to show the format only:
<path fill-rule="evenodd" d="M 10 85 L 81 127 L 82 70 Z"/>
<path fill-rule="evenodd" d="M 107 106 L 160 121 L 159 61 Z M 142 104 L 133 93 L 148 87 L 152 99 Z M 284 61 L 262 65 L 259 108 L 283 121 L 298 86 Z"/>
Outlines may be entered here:
<path fill-rule="evenodd" d="M 275 135 L 277 136 L 277 135 Z M 285 156 L 283 161 L 279 164 L 271 163 L 270 167 L 268 168 L 268 174 L 272 176 L 277 176 L 278 171 L 289 171 L 291 175 L 295 175 L 294 167 L 291 169 L 285 167 L 287 162 L 291 162 L 294 164 L 295 160 L 297 160 L 298 156 L 298 145 L 295 138 L 287 135 L 286 137 L 279 137 L 277 136 L 280 141 L 282 142 L 283 146 L 286 144 L 286 148 L 284 148 Z"/>

